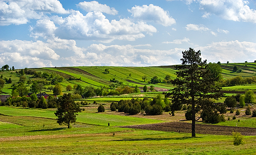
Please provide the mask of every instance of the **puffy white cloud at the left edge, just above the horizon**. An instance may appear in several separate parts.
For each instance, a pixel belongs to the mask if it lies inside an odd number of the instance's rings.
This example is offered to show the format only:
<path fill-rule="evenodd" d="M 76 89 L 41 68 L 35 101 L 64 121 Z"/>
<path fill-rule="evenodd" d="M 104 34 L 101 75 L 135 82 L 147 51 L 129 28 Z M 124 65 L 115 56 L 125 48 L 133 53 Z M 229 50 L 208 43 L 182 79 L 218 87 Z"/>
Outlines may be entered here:
<path fill-rule="evenodd" d="M 60 58 L 60 55 L 42 41 L 0 41 L 0 51 L 2 63 L 15 63 L 19 67 L 42 67 Z"/>

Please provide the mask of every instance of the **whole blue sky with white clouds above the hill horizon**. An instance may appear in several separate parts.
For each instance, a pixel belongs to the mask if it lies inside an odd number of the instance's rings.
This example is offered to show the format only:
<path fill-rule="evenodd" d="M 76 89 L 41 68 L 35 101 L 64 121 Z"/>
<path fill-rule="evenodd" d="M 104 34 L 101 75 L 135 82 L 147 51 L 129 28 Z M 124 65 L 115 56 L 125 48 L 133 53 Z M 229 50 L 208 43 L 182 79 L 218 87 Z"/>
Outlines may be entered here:
<path fill-rule="evenodd" d="M 0 0 L 0 66 L 256 60 L 256 0 Z"/>

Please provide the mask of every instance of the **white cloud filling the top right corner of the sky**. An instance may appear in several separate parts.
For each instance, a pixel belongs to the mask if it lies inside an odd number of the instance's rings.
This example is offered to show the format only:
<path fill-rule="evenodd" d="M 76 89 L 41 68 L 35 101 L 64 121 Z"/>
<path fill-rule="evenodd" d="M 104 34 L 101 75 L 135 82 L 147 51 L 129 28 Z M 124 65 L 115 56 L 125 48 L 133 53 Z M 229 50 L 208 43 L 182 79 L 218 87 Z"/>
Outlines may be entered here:
<path fill-rule="evenodd" d="M 247 0 L 199 0 L 204 18 L 215 14 L 224 20 L 256 23 L 256 10 L 250 9 Z"/>

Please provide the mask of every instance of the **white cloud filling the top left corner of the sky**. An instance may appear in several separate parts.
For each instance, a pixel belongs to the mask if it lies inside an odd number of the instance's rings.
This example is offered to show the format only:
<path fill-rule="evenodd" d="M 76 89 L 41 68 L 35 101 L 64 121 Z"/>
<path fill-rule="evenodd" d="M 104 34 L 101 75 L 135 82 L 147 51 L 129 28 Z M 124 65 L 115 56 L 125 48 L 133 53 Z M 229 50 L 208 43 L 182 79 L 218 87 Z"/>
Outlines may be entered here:
<path fill-rule="evenodd" d="M 45 13 L 68 12 L 58 0 L 1 0 L 0 26 L 26 24 L 30 19 L 41 19 Z"/>

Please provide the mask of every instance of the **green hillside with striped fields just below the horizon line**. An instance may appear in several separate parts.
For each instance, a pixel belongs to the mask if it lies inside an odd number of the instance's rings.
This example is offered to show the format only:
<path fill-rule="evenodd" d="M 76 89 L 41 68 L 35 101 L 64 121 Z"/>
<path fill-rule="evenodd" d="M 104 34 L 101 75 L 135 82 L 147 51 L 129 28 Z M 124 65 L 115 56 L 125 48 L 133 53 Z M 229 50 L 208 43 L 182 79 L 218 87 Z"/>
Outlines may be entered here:
<path fill-rule="evenodd" d="M 237 72 L 233 71 L 233 67 L 237 66 Z M 223 69 L 222 76 L 224 79 L 234 78 L 236 76 L 242 77 L 253 77 L 256 76 L 256 63 L 229 63 L 229 64 L 221 64 Z M 105 72 L 105 69 L 109 70 L 109 73 Z M 104 87 L 113 84 L 111 79 L 118 80 L 119 82 L 123 82 L 125 85 L 133 86 L 136 85 L 138 87 L 143 87 L 144 85 L 150 86 L 153 85 L 158 89 L 168 90 L 173 86 L 171 84 L 166 83 L 158 83 L 158 84 L 149 84 L 148 81 L 157 76 L 160 79 L 164 79 L 166 75 L 170 75 L 171 79 L 176 78 L 175 75 L 175 65 L 172 66 L 155 66 L 155 67 L 113 67 L 113 66 L 79 66 L 79 67 L 55 67 L 55 68 L 31 68 L 29 70 L 33 70 L 36 72 L 47 72 L 60 75 L 64 77 L 64 80 L 61 82 L 63 86 L 63 91 L 65 91 L 65 87 L 70 84 L 73 86 L 74 84 L 80 84 L 82 87 L 86 85 L 93 85 L 95 87 Z M 11 86 L 14 83 L 19 82 L 20 74 L 17 72 L 20 70 L 10 71 L 10 72 L 0 72 L 0 75 L 3 76 L 3 79 L 11 78 L 12 83 L 5 83 L 1 92 L 3 94 L 11 93 Z M 147 78 L 144 80 L 142 76 L 146 76 Z M 26 82 L 28 80 L 38 79 L 32 75 L 25 75 Z M 79 80 L 68 80 L 69 78 L 76 78 Z M 26 83 L 25 82 L 25 83 Z M 30 88 L 29 84 L 26 84 L 27 88 Z M 51 86 L 51 85 L 48 85 Z M 47 86 L 47 87 L 48 87 Z M 52 85 L 53 86 L 53 85 Z M 254 88 L 250 86 L 250 88 Z M 230 88 L 228 88 L 230 89 Z M 47 92 L 47 90 L 45 90 Z M 51 91 L 47 93 L 51 94 Z"/>

